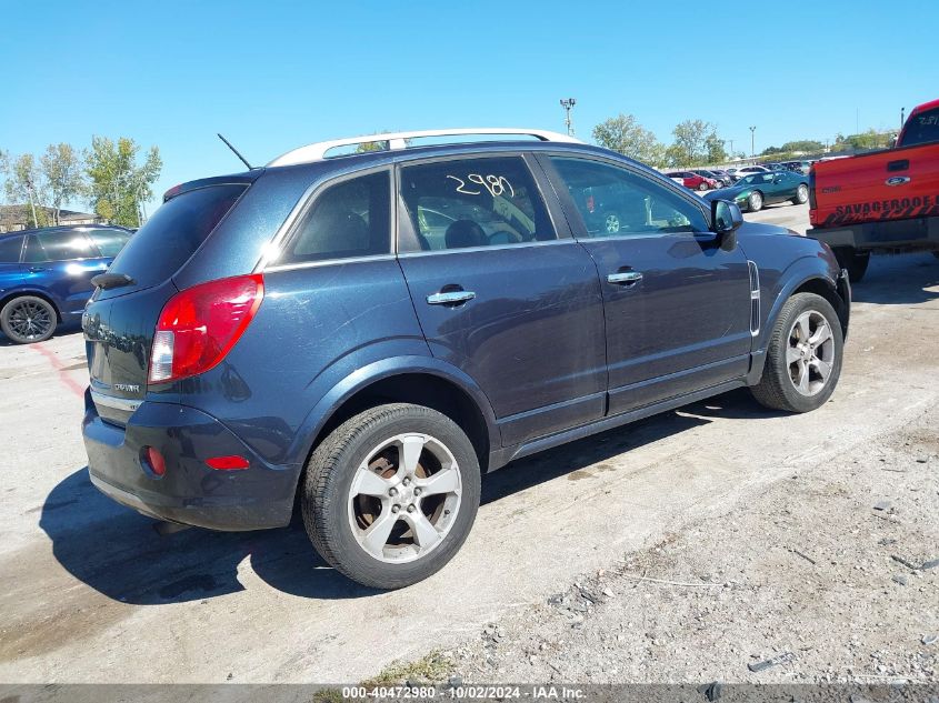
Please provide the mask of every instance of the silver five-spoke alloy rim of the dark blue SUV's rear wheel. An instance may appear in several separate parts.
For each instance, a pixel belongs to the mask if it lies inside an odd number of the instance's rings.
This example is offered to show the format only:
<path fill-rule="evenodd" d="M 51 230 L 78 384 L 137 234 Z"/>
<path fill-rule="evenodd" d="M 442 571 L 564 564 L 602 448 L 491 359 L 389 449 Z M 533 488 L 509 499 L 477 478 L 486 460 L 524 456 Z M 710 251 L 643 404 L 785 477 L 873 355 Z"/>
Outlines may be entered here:
<path fill-rule="evenodd" d="M 461 493 L 460 469 L 442 442 L 429 434 L 399 434 L 370 451 L 357 469 L 349 524 L 371 558 L 411 562 L 447 536 Z"/>

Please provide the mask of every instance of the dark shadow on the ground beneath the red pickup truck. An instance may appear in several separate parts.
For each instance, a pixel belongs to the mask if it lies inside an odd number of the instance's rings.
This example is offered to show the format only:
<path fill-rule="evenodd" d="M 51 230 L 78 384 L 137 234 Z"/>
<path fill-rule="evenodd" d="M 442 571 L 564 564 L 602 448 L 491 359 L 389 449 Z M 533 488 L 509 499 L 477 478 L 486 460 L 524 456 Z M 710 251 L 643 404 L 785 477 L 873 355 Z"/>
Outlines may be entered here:
<path fill-rule="evenodd" d="M 853 302 L 882 305 L 937 300 L 939 259 L 929 252 L 873 255 L 865 278 L 852 284 L 851 299 Z"/>

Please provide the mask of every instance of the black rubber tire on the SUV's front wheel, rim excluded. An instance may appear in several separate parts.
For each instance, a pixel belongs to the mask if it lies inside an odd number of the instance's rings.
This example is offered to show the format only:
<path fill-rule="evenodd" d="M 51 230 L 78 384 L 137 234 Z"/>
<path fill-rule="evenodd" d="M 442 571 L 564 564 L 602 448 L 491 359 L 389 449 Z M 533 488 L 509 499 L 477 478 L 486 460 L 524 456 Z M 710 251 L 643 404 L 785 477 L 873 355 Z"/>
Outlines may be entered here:
<path fill-rule="evenodd" d="M 821 389 L 812 395 L 806 395 L 796 388 L 787 362 L 791 333 L 796 321 L 806 312 L 816 312 L 825 318 L 831 331 L 833 343 L 832 365 L 828 379 Z M 843 338 L 838 313 L 825 298 L 815 293 L 797 293 L 782 305 L 779 318 L 772 328 L 767 345 L 766 365 L 760 382 L 750 388 L 753 398 L 761 405 L 787 412 L 809 412 L 828 402 L 838 379 L 841 375 L 841 354 Z"/>

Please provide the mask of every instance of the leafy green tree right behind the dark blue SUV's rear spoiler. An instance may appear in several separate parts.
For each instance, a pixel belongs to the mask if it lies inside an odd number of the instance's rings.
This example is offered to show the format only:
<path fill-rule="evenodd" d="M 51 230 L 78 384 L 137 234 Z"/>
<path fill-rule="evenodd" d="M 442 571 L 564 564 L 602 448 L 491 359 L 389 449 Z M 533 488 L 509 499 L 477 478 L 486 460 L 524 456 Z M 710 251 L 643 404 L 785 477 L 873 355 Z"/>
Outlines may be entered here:
<path fill-rule="evenodd" d="M 151 185 L 160 178 L 160 150 L 150 147 L 142 164 L 137 162 L 139 151 L 137 142 L 127 137 L 117 142 L 91 138 L 91 149 L 86 152 L 88 194 L 94 212 L 111 223 L 139 227 L 140 205 L 153 194 Z"/>

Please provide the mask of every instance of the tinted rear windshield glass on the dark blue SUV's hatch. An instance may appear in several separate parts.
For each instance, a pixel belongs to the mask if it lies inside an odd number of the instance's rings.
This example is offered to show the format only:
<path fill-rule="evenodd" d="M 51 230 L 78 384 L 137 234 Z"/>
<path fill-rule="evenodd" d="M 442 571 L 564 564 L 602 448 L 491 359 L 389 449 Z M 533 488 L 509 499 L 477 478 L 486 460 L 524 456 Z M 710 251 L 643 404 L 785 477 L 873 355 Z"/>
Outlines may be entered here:
<path fill-rule="evenodd" d="M 199 249 L 246 188 L 210 185 L 163 203 L 120 250 L 110 271 L 126 273 L 137 288 L 162 283 Z"/>

